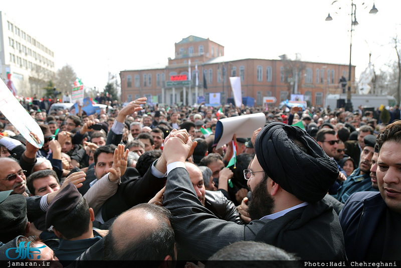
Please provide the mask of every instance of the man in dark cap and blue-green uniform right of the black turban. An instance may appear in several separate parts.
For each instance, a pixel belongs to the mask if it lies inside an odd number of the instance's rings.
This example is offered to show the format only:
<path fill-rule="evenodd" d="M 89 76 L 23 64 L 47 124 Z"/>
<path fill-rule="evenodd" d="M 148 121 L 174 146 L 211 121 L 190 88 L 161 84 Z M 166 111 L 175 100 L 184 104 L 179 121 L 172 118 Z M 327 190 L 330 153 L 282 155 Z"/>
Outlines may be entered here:
<path fill-rule="evenodd" d="M 337 194 L 333 195 L 341 203 L 345 203 L 353 193 L 377 191 L 377 189 L 372 187 L 370 179 L 370 166 L 372 164 L 376 136 L 370 134 L 366 135 L 363 141 L 364 147 L 360 155 L 359 168 L 352 172 L 348 179 L 342 183 Z"/>

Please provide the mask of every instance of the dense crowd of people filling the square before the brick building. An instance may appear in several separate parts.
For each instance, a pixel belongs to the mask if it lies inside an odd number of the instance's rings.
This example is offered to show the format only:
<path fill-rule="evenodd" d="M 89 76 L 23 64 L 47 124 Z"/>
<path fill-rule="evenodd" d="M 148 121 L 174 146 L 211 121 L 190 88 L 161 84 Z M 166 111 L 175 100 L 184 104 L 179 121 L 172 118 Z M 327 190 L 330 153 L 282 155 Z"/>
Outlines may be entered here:
<path fill-rule="evenodd" d="M 40 256 L 55 267 L 400 260 L 397 105 L 382 123 L 363 107 L 146 101 L 103 99 L 112 108 L 95 114 L 22 103 L 43 132 L 41 149 L 0 114 L 1 260 Z M 247 138 L 232 133 L 234 143 L 217 147 L 219 120 L 257 112 L 264 127 Z M 29 254 L 29 245 L 40 251 Z"/>

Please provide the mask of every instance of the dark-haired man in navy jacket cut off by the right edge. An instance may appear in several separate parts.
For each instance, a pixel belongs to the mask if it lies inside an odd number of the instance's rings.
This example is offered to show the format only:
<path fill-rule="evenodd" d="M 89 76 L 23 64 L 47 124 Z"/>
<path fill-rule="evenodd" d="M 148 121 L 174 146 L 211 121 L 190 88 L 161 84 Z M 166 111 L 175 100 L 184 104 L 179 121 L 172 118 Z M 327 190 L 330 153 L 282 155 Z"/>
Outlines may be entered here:
<path fill-rule="evenodd" d="M 351 195 L 339 218 L 349 260 L 399 260 L 401 256 L 401 121 L 377 138 L 376 173 L 380 192 Z M 370 180 L 369 180 L 370 181 Z"/>

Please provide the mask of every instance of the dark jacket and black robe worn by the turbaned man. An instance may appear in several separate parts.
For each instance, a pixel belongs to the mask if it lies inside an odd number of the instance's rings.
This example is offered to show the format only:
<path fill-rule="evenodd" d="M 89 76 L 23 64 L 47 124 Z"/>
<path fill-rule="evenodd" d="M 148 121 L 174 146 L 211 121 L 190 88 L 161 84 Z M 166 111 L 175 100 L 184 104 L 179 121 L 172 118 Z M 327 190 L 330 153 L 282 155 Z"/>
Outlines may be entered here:
<path fill-rule="evenodd" d="M 175 240 L 191 248 L 196 259 L 208 259 L 224 246 L 241 240 L 263 241 L 294 252 L 302 259 L 345 260 L 342 230 L 327 202 L 309 204 L 277 219 L 239 225 L 218 219 L 202 206 L 184 168 L 169 172 L 163 205 L 173 215 Z M 196 246 L 194 246 L 196 245 Z"/>

